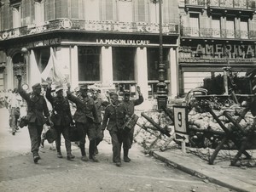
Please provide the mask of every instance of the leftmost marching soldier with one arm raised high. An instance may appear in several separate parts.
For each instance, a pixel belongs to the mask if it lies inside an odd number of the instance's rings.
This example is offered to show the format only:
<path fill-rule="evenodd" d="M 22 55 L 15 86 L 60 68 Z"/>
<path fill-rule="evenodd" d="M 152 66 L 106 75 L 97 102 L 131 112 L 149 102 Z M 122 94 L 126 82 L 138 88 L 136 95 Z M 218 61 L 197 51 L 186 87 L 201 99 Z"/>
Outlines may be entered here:
<path fill-rule="evenodd" d="M 49 119 L 49 110 L 46 104 L 44 96 L 40 95 L 41 85 L 36 83 L 32 86 L 32 93 L 26 93 L 26 91 L 21 86 L 21 76 L 17 76 L 18 79 L 18 92 L 20 96 L 26 100 L 27 104 L 27 115 L 28 120 L 28 131 L 31 140 L 31 151 L 33 155 L 33 160 L 35 163 L 40 160 L 38 155 L 38 150 L 41 142 L 41 133 L 43 131 L 44 123 L 48 118 L 49 125 L 53 126 L 53 122 Z"/>

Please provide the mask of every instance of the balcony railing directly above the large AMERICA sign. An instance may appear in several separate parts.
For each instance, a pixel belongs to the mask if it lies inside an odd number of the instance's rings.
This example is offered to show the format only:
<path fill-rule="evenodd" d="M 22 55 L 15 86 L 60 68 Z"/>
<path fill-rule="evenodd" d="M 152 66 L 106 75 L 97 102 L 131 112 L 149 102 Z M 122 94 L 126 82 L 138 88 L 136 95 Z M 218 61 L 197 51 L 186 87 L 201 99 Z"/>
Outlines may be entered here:
<path fill-rule="evenodd" d="M 255 39 L 256 31 L 244 30 L 227 30 L 227 29 L 214 29 L 214 28 L 195 28 L 195 27 L 182 27 L 182 37 L 206 37 L 206 38 L 236 38 L 236 39 Z"/>

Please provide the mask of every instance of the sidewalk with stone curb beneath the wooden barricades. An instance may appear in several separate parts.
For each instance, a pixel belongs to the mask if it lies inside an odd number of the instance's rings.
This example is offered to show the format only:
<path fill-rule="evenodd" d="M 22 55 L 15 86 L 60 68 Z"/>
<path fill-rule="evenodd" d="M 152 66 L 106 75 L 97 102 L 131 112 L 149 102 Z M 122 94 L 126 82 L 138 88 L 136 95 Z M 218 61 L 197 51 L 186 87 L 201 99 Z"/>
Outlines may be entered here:
<path fill-rule="evenodd" d="M 188 151 L 188 150 L 187 150 Z M 249 152 L 249 151 L 248 151 Z M 256 151 L 253 151 L 255 161 Z M 181 149 L 154 151 L 153 155 L 172 167 L 236 191 L 256 191 L 256 167 L 231 167 L 230 160 L 217 161 L 209 165 L 195 154 L 183 153 Z"/>

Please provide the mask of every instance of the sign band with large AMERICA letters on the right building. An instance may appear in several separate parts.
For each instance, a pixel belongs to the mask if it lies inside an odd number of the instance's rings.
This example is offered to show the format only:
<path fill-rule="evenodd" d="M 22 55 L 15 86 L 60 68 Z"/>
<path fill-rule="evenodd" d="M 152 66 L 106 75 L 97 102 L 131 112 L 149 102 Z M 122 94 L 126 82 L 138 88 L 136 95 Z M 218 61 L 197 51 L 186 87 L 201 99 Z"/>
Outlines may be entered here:
<path fill-rule="evenodd" d="M 180 62 L 206 62 L 205 59 L 223 62 L 228 57 L 231 62 L 252 62 L 256 61 L 256 44 L 197 44 L 196 47 L 182 46 L 179 53 Z"/>

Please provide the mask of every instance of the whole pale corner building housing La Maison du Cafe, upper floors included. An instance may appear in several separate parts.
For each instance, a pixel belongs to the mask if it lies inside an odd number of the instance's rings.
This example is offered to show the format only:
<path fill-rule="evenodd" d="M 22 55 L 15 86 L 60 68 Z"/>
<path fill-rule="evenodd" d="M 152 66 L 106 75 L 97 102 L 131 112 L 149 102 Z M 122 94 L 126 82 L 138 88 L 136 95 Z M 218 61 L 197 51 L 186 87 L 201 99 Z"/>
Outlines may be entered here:
<path fill-rule="evenodd" d="M 176 96 L 178 3 L 162 2 L 166 83 L 168 96 Z M 1 0 L 0 5 L 2 88 L 16 86 L 19 66 L 30 88 L 42 82 L 41 73 L 54 54 L 73 88 L 84 83 L 119 83 L 135 96 L 139 85 L 146 99 L 155 97 L 160 34 L 157 0 Z"/>

